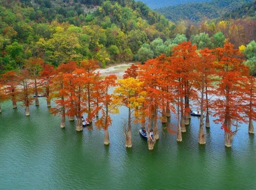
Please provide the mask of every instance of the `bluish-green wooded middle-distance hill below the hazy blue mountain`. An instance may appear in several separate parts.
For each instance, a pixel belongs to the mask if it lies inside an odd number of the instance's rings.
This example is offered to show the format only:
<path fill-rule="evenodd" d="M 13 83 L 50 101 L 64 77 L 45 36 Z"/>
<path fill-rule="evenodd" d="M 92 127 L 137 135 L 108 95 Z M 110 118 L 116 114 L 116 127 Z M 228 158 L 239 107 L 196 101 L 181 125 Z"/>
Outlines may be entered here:
<path fill-rule="evenodd" d="M 212 0 L 210 2 L 163 7 L 157 11 L 173 22 L 179 20 L 198 22 L 222 17 L 226 12 L 241 7 L 248 2 L 251 2 L 251 0 Z"/>

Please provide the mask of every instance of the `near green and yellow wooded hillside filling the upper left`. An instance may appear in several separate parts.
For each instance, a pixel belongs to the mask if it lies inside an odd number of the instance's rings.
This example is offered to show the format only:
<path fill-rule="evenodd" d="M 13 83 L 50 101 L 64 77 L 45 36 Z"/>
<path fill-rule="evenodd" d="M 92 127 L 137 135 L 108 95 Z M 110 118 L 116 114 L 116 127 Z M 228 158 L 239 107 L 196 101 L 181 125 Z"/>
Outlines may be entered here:
<path fill-rule="evenodd" d="M 91 4 L 93 3 L 93 4 Z M 3 0 L 0 73 L 29 57 L 58 65 L 68 60 L 132 60 L 140 46 L 172 36 L 175 25 L 142 2 Z"/>

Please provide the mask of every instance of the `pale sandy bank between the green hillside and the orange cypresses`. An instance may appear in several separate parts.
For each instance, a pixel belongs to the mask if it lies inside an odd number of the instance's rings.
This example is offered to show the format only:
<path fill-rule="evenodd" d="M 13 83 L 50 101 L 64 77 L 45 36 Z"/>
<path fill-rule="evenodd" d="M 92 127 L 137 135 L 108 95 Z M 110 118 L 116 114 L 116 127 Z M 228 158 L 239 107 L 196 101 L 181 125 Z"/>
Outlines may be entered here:
<path fill-rule="evenodd" d="M 122 78 L 124 71 L 127 68 L 131 67 L 132 64 L 134 63 L 116 64 L 116 65 L 107 67 L 105 69 L 97 69 L 96 71 L 99 71 L 101 73 L 101 76 L 108 76 L 110 74 L 115 74 L 118 78 Z"/>

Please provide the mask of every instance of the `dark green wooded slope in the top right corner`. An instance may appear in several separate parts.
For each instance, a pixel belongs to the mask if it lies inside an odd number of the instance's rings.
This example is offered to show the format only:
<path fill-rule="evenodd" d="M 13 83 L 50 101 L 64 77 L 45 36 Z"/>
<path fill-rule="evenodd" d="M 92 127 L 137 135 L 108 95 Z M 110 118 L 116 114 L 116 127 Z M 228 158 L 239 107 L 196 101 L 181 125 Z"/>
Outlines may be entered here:
<path fill-rule="evenodd" d="M 224 18 L 245 18 L 245 17 L 254 17 L 256 15 L 256 1 L 245 3 L 241 7 L 234 9 L 233 11 L 226 13 Z"/>

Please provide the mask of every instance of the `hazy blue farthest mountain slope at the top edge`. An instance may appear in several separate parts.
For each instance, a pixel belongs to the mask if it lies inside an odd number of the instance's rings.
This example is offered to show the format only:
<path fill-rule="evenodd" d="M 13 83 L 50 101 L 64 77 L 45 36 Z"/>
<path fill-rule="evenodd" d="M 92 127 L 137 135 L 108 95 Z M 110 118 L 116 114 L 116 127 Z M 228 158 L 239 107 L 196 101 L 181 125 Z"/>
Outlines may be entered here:
<path fill-rule="evenodd" d="M 180 5 L 186 3 L 205 2 L 210 0 L 140 0 L 146 3 L 151 9 L 159 9 L 161 7 Z"/>

